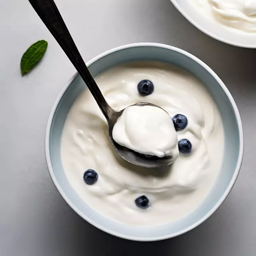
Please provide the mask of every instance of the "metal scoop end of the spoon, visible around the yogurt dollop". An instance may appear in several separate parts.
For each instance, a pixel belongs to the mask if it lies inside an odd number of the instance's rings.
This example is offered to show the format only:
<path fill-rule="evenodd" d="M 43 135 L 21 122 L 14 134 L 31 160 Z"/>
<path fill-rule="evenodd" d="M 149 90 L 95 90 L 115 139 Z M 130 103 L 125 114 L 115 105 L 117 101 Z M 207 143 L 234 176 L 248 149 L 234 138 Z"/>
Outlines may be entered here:
<path fill-rule="evenodd" d="M 140 103 L 133 104 L 131 106 L 140 106 L 140 107 L 152 106 L 152 107 L 160 108 L 159 106 L 152 104 L 152 103 L 148 103 L 148 102 L 140 102 Z M 131 107 L 131 106 L 129 106 L 129 107 Z M 129 108 L 129 107 L 127 107 L 127 108 Z M 160 167 L 165 167 L 165 166 L 171 165 L 173 163 L 172 156 L 164 156 L 164 157 L 146 156 L 144 154 L 135 152 L 132 149 L 121 146 L 118 143 L 116 143 L 115 140 L 113 140 L 112 132 L 113 132 L 114 125 L 116 124 L 118 118 L 123 114 L 124 109 L 122 109 L 120 111 L 116 111 L 116 110 L 112 109 L 113 112 L 109 116 L 110 118 L 107 119 L 109 140 L 110 140 L 113 148 L 116 150 L 116 153 L 119 156 L 121 156 L 122 158 L 124 158 L 126 161 L 128 161 L 132 164 L 141 166 L 141 167 L 160 168 Z M 161 108 L 161 109 L 163 109 L 163 108 Z"/>

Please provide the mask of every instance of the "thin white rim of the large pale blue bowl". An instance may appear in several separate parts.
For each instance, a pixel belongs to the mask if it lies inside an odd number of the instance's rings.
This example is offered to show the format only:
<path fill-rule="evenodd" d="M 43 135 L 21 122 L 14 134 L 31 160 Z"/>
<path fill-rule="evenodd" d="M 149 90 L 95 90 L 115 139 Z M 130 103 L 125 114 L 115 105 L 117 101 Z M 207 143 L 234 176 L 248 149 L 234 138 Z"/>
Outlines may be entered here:
<path fill-rule="evenodd" d="M 225 190 L 224 194 L 222 195 L 222 197 L 219 199 L 219 201 L 212 207 L 211 211 L 209 211 L 201 220 L 197 221 L 196 223 L 194 223 L 193 225 L 189 226 L 188 228 L 185 228 L 183 230 L 180 230 L 179 232 L 176 233 L 172 233 L 169 234 L 167 236 L 157 236 L 157 237 L 149 237 L 149 238 L 143 238 L 143 237 L 135 237 L 135 236 L 126 236 L 123 235 L 121 233 L 109 230 L 108 228 L 105 228 L 99 224 L 97 224 L 96 222 L 94 222 L 93 220 L 91 220 L 90 218 L 88 218 L 83 212 L 81 212 L 73 203 L 72 201 L 68 198 L 68 196 L 66 195 L 66 193 L 63 191 L 63 189 L 61 188 L 58 180 L 56 179 L 54 172 L 53 172 L 53 168 L 52 168 L 52 162 L 51 162 L 51 157 L 50 157 L 50 131 L 51 131 L 51 126 L 52 126 L 52 121 L 53 121 L 53 116 L 54 113 L 56 111 L 57 106 L 59 105 L 60 99 L 62 98 L 64 92 L 68 89 L 68 86 L 71 84 L 71 82 L 76 78 L 76 76 L 78 76 L 78 73 L 76 72 L 69 80 L 68 82 L 64 85 L 64 87 L 62 88 L 62 90 L 60 91 L 57 99 L 55 100 L 51 112 L 49 114 L 48 117 L 48 121 L 47 121 L 47 125 L 46 125 L 46 131 L 45 131 L 45 142 L 44 142 L 44 148 L 45 148 L 45 159 L 46 159 L 46 164 L 48 167 L 48 171 L 49 174 L 51 176 L 52 182 L 55 185 L 55 187 L 57 188 L 57 190 L 59 191 L 60 195 L 63 197 L 63 199 L 68 203 L 68 205 L 80 216 L 82 217 L 84 220 L 86 220 L 87 222 L 89 222 L 90 224 L 92 224 L 93 226 L 95 226 L 96 228 L 99 228 L 100 230 L 111 234 L 113 236 L 117 236 L 120 238 L 124 238 L 124 239 L 128 239 L 128 240 L 134 240 L 134 241 L 158 241 L 158 240 L 164 240 L 164 239 L 168 239 L 168 238 L 172 238 L 175 236 L 179 236 L 182 235 L 184 233 L 187 233 L 188 231 L 196 228 L 198 225 L 200 225 L 201 223 L 203 223 L 205 220 L 207 220 L 219 207 L 220 205 L 224 202 L 224 200 L 226 199 L 226 197 L 228 196 L 229 192 L 231 191 L 232 187 L 234 186 L 241 164 L 242 164 L 242 159 L 243 159 L 243 151 L 244 151 L 244 137 L 243 137 L 243 127 L 242 127 L 242 121 L 240 118 L 240 114 L 238 111 L 238 108 L 236 106 L 236 103 L 233 99 L 233 97 L 231 96 L 230 92 L 228 91 L 227 87 L 224 85 L 224 83 L 221 81 L 221 79 L 212 71 L 211 68 L 209 68 L 203 61 L 199 60 L 198 58 L 196 58 L 194 55 L 181 50 L 177 47 L 174 46 L 170 46 L 170 45 L 166 45 L 166 44 L 158 44 L 158 43 L 134 43 L 134 44 L 126 44 L 126 45 L 122 45 L 116 48 L 113 48 L 111 50 L 108 50 L 106 52 L 103 52 L 101 54 L 99 54 L 98 56 L 92 58 L 91 60 L 89 60 L 86 63 L 87 67 L 90 67 L 92 65 L 92 63 L 94 63 L 95 61 L 103 58 L 104 56 L 111 54 L 113 52 L 116 51 L 120 51 L 120 50 L 124 50 L 127 48 L 133 48 L 133 47 L 143 47 L 143 46 L 151 46 L 151 47 L 160 47 L 160 48 L 165 48 L 168 50 L 172 50 L 172 51 L 176 51 L 179 52 L 187 57 L 189 57 L 190 59 L 196 61 L 198 64 L 200 64 L 203 68 L 205 68 L 212 76 L 213 78 L 220 84 L 221 88 L 223 89 L 223 91 L 226 93 L 226 95 L 228 96 L 228 99 L 232 105 L 232 108 L 234 110 L 235 116 L 236 116 L 236 122 L 237 122 L 237 126 L 238 126 L 238 132 L 239 132 L 239 154 L 238 154 L 238 159 L 237 159 L 237 164 L 236 164 L 236 169 L 235 172 L 233 174 L 232 179 L 229 182 L 228 188 Z"/>

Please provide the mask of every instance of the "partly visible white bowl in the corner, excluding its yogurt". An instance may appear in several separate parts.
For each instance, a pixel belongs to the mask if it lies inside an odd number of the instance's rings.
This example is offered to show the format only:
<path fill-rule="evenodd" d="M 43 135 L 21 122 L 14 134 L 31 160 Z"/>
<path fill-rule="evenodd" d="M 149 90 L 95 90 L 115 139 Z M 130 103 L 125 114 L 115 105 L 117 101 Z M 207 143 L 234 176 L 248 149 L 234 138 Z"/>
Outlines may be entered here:
<path fill-rule="evenodd" d="M 188 3 L 188 0 L 171 0 L 176 9 L 196 28 L 226 44 L 245 48 L 256 48 L 256 34 L 240 34 L 230 31 L 217 22 L 212 22 L 202 16 Z"/>

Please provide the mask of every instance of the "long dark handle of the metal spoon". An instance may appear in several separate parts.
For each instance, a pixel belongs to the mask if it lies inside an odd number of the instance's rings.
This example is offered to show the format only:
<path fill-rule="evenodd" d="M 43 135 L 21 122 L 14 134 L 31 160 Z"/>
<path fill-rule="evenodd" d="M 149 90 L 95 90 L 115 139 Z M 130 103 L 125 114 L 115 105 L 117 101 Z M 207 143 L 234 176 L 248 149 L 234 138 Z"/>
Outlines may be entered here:
<path fill-rule="evenodd" d="M 98 85 L 93 79 L 89 69 L 86 67 L 84 60 L 78 52 L 76 45 L 68 32 L 60 12 L 53 0 L 28 0 L 35 9 L 38 16 L 44 22 L 45 26 L 52 33 L 56 41 L 60 44 L 62 50 L 66 53 L 77 72 L 83 78 L 85 84 L 89 88 L 92 96 L 96 100 L 103 115 L 107 121 L 115 112 L 107 103 L 104 96 L 100 92 Z"/>

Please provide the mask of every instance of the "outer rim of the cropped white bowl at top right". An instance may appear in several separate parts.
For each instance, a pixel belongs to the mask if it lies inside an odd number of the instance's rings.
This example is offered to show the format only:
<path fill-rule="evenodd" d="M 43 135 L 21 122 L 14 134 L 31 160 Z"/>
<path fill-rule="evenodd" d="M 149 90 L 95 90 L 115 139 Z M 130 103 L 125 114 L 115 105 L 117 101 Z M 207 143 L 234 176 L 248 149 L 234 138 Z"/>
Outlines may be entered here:
<path fill-rule="evenodd" d="M 207 30 L 206 28 L 203 28 L 200 24 L 198 24 L 195 20 L 193 20 L 185 11 L 183 11 L 183 9 L 180 7 L 180 5 L 177 3 L 176 0 L 170 0 L 172 2 L 172 4 L 174 5 L 174 7 L 196 28 L 198 28 L 199 30 L 201 30 L 204 34 L 206 34 L 207 36 L 210 36 L 220 42 L 226 43 L 226 44 L 230 44 L 230 45 L 234 45 L 234 46 L 238 46 L 238 47 L 242 47 L 242 48 L 256 48 L 256 44 L 239 44 L 233 41 L 229 41 L 227 39 L 221 38 L 219 36 L 214 35 L 214 33 L 212 33 L 211 31 Z"/>

